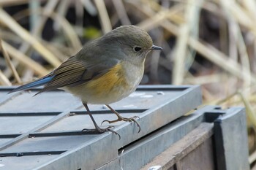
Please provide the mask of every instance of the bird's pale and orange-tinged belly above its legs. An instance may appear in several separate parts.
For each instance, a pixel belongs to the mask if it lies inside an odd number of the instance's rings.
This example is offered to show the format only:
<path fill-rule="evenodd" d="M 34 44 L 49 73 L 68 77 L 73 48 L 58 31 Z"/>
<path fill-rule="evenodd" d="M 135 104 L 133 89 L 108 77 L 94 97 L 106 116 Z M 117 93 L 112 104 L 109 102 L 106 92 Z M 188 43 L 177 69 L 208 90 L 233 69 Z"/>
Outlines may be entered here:
<path fill-rule="evenodd" d="M 67 90 L 85 103 L 111 104 L 134 92 L 140 83 L 141 77 L 135 77 L 133 80 L 127 81 L 124 74 L 110 70 L 110 72 L 96 80 L 91 80 Z"/>

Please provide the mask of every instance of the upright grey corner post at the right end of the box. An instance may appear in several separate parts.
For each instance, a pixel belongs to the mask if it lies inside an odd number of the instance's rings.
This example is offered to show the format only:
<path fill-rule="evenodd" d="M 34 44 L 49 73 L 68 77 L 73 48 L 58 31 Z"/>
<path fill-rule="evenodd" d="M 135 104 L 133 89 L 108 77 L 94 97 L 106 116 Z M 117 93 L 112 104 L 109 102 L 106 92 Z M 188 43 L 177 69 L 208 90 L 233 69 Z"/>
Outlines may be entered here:
<path fill-rule="evenodd" d="M 244 108 L 232 107 L 214 121 L 218 169 L 249 169 Z"/>

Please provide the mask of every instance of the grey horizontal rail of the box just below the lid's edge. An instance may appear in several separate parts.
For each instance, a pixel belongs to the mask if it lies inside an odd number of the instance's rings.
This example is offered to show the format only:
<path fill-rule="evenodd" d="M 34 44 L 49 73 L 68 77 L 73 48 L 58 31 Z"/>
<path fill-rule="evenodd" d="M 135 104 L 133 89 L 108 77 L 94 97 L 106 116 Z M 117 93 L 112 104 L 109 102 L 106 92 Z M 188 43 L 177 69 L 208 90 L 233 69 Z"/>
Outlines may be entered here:
<path fill-rule="evenodd" d="M 124 150 L 124 152 L 120 152 L 118 158 L 106 163 L 97 170 L 140 169 L 156 155 L 170 147 L 171 144 L 174 144 L 197 128 L 203 120 L 203 113 L 182 117 L 175 123 L 170 123 L 159 131 L 146 136 L 143 140 L 121 148 L 121 151 Z"/>

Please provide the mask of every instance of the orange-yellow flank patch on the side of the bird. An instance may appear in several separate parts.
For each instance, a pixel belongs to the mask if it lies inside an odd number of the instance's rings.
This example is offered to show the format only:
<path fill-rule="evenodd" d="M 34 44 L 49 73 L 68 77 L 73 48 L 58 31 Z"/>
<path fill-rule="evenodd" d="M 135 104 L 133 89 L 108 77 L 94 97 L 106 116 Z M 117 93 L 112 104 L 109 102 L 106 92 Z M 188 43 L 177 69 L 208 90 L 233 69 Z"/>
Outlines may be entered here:
<path fill-rule="evenodd" d="M 121 63 L 116 64 L 106 74 L 86 83 L 86 88 L 99 96 L 110 93 L 112 90 L 118 90 L 119 87 L 128 88 L 127 81 L 124 79 L 124 71 L 121 68 Z"/>

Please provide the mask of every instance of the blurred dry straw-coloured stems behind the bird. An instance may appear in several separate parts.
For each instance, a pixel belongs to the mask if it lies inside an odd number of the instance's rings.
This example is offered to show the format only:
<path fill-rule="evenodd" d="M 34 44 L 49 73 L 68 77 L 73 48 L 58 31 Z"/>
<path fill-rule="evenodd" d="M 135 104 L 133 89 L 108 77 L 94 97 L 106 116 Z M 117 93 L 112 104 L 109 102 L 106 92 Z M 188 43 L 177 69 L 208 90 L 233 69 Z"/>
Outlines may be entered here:
<path fill-rule="evenodd" d="M 163 47 L 148 56 L 141 83 L 200 84 L 204 104 L 246 107 L 256 169 L 255 0 L 0 0 L 0 6 L 0 85 L 42 77 L 91 39 L 137 25 Z"/>

